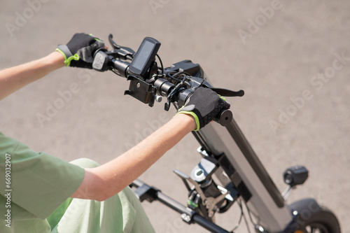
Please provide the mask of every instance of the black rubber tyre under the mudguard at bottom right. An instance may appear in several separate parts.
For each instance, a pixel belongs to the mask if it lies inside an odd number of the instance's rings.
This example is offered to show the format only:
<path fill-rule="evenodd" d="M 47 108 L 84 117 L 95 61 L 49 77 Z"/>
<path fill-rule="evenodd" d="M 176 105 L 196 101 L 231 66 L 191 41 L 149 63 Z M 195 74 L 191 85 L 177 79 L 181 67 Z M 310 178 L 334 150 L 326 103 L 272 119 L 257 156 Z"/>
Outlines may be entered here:
<path fill-rule="evenodd" d="M 337 217 L 324 207 L 311 215 L 300 213 L 300 216 L 300 226 L 295 233 L 340 233 Z"/>

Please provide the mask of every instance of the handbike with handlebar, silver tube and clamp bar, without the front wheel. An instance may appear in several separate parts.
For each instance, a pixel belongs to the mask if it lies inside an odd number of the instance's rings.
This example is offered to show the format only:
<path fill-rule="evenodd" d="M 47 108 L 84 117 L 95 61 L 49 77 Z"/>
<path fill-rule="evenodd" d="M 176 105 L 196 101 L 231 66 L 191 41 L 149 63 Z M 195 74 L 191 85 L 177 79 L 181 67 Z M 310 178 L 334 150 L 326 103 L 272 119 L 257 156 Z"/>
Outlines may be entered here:
<path fill-rule="evenodd" d="M 159 97 L 163 96 L 167 97 L 166 111 L 169 110 L 171 103 L 178 109 L 200 86 L 211 88 L 223 96 L 234 97 L 244 94 L 243 91 L 233 92 L 211 87 L 200 65 L 193 64 L 190 60 L 172 64 L 166 69 L 162 66 L 159 72 L 160 67 L 155 62 L 155 54 L 160 43 L 155 39 L 153 39 L 154 47 L 151 52 L 151 47 L 146 48 L 146 46 L 143 50 L 144 55 L 153 54 L 153 57 L 145 62 L 145 64 L 151 64 L 143 69 L 146 74 L 130 73 L 129 67 L 133 63 L 130 64 L 127 60 L 133 60 L 135 52 L 130 48 L 117 45 L 112 38 L 113 36 L 110 35 L 109 41 L 114 50 L 111 52 L 98 50 L 92 67 L 98 71 L 112 70 L 119 76 L 126 77 L 130 80 L 130 88 L 125 91 L 125 94 L 130 94 L 144 104 L 153 106 L 155 99 L 157 97 L 161 99 Z M 160 63 L 162 64 L 161 60 Z M 175 78 L 175 74 L 183 75 L 182 80 Z M 211 122 L 197 132 L 193 132 L 200 143 L 198 151 L 203 158 L 193 169 L 191 176 L 176 171 L 190 191 L 188 206 L 183 206 L 157 188 L 139 180 L 131 184 L 137 187 L 135 194 L 141 202 L 145 199 L 149 202 L 159 200 L 181 213 L 181 218 L 187 223 L 197 223 L 211 232 L 228 232 L 214 223 L 213 216 L 216 212 L 223 213 L 230 209 L 230 206 L 241 197 L 246 203 L 249 214 L 255 217 L 254 227 L 257 232 L 295 232 L 298 229 L 298 218 L 300 218 L 300 214 L 295 210 L 308 206 L 316 212 L 321 209 L 320 206 L 314 199 L 286 204 L 239 129 L 232 113 L 228 113 L 230 112 L 225 110 L 216 116 L 215 120 L 221 125 Z M 286 182 L 290 185 L 289 188 L 295 187 L 307 179 L 307 170 L 295 168 L 291 169 L 290 174 L 287 175 L 292 177 L 290 181 L 295 179 L 291 183 Z M 193 184 L 192 188 L 188 182 Z"/>

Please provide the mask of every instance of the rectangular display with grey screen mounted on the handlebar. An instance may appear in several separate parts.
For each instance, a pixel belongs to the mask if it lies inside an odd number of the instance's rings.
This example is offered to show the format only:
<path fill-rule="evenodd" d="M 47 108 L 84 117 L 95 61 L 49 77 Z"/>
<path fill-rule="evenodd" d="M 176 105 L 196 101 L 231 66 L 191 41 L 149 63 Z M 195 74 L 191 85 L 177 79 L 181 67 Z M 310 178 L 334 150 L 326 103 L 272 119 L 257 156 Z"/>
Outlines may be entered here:
<path fill-rule="evenodd" d="M 129 70 L 137 76 L 144 77 L 154 61 L 159 48 L 160 42 L 155 38 L 144 38 L 134 59 L 132 59 Z"/>

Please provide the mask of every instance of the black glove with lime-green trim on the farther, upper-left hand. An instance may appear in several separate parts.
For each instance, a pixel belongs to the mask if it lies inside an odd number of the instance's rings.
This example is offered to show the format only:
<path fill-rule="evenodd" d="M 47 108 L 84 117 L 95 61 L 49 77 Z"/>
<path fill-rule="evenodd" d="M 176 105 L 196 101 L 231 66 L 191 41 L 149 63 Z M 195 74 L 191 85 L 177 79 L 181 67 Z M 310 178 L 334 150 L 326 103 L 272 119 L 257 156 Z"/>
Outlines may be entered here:
<path fill-rule="evenodd" d="M 66 66 L 92 69 L 94 52 L 104 48 L 104 41 L 84 33 L 77 33 L 66 45 L 58 45 L 56 51 L 64 56 Z"/>

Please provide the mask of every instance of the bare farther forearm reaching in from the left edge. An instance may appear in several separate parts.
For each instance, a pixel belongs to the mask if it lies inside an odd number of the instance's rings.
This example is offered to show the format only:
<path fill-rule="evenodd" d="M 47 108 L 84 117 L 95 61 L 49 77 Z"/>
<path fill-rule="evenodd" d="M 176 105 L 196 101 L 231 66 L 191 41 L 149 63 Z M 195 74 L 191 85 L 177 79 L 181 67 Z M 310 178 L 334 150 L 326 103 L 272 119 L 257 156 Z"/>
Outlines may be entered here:
<path fill-rule="evenodd" d="M 59 52 L 0 71 L 0 100 L 20 88 L 33 83 L 48 73 L 64 66 L 64 57 Z"/>

